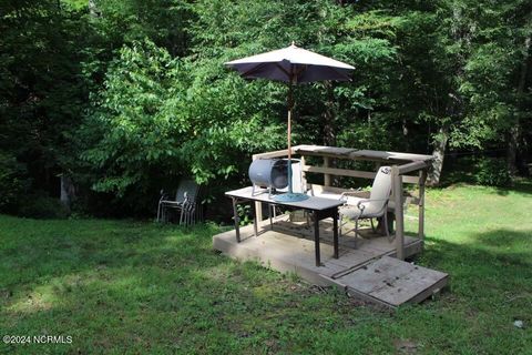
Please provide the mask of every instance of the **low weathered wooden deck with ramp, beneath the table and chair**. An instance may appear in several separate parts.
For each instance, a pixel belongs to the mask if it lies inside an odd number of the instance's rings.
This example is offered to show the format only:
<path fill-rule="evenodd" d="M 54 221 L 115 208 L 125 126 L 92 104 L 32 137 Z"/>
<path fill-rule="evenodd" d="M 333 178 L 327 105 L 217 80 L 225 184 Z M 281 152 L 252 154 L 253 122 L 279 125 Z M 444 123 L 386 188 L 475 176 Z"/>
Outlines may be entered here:
<path fill-rule="evenodd" d="M 386 236 L 366 233 L 364 239 L 340 237 L 339 258 L 332 257 L 331 223 L 320 223 L 320 250 L 324 266 L 315 265 L 313 229 L 305 221 L 289 222 L 287 215 L 258 226 L 241 229 L 242 242 L 235 231 L 213 237 L 214 248 L 246 261 L 255 260 L 276 271 L 293 272 L 310 283 L 339 286 L 365 301 L 395 307 L 406 302 L 420 302 L 441 290 L 448 275 L 395 258 L 396 247 Z M 422 241 L 405 236 L 406 256 L 422 250 Z"/>

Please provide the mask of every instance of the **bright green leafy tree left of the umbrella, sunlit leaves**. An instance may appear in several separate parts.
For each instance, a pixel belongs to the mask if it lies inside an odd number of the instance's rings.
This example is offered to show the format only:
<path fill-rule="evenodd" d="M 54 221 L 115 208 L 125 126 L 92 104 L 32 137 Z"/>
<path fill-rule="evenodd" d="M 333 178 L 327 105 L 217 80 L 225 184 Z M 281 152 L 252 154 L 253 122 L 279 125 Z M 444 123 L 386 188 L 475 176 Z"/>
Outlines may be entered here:
<path fill-rule="evenodd" d="M 101 138 L 83 154 L 105 172 L 94 184 L 96 191 L 123 195 L 136 186 L 145 192 L 157 189 L 154 183 L 163 174 L 193 175 L 198 183 L 227 178 L 242 168 L 239 155 L 276 148 L 276 126 L 262 126 L 260 112 L 234 100 L 249 92 L 258 98 L 260 88 L 246 90 L 227 74 L 216 81 L 213 77 L 223 68 L 212 63 L 171 59 L 149 40 L 121 50 L 85 126 L 91 136 Z"/>

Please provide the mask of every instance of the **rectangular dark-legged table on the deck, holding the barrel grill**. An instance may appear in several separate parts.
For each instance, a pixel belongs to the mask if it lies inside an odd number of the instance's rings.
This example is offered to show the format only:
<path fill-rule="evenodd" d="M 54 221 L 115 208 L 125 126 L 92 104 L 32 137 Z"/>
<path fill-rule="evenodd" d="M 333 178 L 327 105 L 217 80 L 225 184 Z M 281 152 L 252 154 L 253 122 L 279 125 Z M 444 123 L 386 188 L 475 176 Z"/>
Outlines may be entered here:
<path fill-rule="evenodd" d="M 344 204 L 344 201 L 340 200 L 332 200 L 332 199 L 324 199 L 317 196 L 309 196 L 305 201 L 297 201 L 297 202 L 279 202 L 274 201 L 270 199 L 268 192 L 255 192 L 253 194 L 253 187 L 244 187 L 239 190 L 228 191 L 225 193 L 233 200 L 233 213 L 235 217 L 235 232 L 236 232 L 236 242 L 241 242 L 241 229 L 239 229 L 239 217 L 237 213 L 237 204 L 243 202 L 263 202 L 268 204 L 268 213 L 270 213 L 269 206 L 272 205 L 279 205 L 279 206 L 288 206 L 295 207 L 298 210 L 305 210 L 307 212 L 313 213 L 314 215 L 314 242 L 315 242 L 315 252 L 316 252 L 316 266 L 321 266 L 320 255 L 319 255 L 319 221 L 331 217 L 332 219 L 332 240 L 334 240 L 334 257 L 338 258 L 338 207 Z M 257 236 L 257 211 L 254 206 L 255 204 L 252 203 L 253 206 L 253 227 L 255 236 Z M 272 221 L 272 215 L 269 216 Z"/>

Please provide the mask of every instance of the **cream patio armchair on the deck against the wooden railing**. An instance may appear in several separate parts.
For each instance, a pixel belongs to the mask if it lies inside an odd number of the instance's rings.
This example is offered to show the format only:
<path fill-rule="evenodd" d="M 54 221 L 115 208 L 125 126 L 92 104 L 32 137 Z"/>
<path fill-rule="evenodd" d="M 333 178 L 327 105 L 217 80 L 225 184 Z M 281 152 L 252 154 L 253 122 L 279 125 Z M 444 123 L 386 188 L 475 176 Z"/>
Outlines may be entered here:
<path fill-rule="evenodd" d="M 361 199 L 350 196 L 356 192 L 345 192 L 340 195 L 340 199 L 346 201 L 346 204 L 339 209 L 340 221 L 338 223 L 338 235 L 341 236 L 341 227 L 347 224 L 346 219 L 355 222 L 355 229 L 348 232 L 355 231 L 355 237 L 358 235 L 358 221 L 367 220 L 371 221 L 371 229 L 375 232 L 374 219 L 382 217 L 386 235 L 389 237 L 388 231 L 388 202 L 391 193 L 391 168 L 380 166 L 377 175 L 375 176 L 374 184 L 369 199 Z M 348 233 L 347 232 L 347 233 Z"/>

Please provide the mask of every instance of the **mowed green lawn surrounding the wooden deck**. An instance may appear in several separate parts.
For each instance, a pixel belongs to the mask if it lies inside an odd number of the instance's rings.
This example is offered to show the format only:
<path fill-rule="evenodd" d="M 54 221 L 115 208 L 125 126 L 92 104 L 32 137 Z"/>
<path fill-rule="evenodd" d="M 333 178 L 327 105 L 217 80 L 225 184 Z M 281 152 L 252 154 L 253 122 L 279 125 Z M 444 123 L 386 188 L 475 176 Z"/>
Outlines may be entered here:
<path fill-rule="evenodd" d="M 416 262 L 450 286 L 396 313 L 224 257 L 214 225 L 0 216 L 0 335 L 72 337 L 0 353 L 532 354 L 532 184 L 430 190 L 427 214 Z"/>

